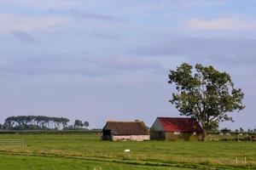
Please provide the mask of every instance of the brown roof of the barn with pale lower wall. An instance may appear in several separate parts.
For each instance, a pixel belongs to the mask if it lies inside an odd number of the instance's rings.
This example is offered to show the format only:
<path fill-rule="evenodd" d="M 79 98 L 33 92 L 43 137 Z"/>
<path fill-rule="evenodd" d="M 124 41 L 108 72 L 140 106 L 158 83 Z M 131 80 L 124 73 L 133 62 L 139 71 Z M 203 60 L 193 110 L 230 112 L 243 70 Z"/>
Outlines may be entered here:
<path fill-rule="evenodd" d="M 148 135 L 148 128 L 144 122 L 108 121 L 103 130 L 111 130 L 113 135 Z"/>

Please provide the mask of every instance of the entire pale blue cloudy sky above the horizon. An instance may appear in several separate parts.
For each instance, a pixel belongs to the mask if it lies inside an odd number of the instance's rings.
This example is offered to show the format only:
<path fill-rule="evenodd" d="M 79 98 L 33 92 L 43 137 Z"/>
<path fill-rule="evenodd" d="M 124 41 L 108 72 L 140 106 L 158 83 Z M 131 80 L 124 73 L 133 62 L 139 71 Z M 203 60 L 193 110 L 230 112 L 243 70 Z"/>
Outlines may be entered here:
<path fill-rule="evenodd" d="M 245 93 L 220 127 L 256 127 L 254 0 L 0 0 L 0 122 L 64 116 L 152 125 L 179 116 L 177 65 L 213 65 Z"/>

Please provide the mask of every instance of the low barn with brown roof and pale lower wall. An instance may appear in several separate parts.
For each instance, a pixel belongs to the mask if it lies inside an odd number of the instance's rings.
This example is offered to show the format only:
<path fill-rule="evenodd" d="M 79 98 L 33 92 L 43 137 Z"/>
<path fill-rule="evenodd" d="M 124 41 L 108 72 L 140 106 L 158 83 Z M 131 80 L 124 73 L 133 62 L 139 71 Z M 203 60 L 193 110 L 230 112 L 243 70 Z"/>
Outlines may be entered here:
<path fill-rule="evenodd" d="M 103 140 L 149 140 L 148 128 L 144 122 L 109 121 L 102 129 Z"/>

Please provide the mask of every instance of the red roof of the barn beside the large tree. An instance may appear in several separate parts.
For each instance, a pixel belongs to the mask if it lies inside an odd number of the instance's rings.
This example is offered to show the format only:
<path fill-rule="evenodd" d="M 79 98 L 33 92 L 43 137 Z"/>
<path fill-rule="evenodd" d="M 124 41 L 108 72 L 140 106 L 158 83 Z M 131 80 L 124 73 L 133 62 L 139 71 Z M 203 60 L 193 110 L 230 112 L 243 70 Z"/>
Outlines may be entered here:
<path fill-rule="evenodd" d="M 192 118 L 183 117 L 157 117 L 165 132 L 201 133 L 198 122 Z"/>

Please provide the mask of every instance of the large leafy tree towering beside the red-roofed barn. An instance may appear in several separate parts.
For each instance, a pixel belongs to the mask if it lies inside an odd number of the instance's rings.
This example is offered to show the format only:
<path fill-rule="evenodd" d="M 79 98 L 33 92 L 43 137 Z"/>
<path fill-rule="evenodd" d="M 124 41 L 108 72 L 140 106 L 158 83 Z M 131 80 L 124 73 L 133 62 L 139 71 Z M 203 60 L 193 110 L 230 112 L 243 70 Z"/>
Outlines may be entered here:
<path fill-rule="evenodd" d="M 219 122 L 233 121 L 231 112 L 245 108 L 241 88 L 235 88 L 228 73 L 212 66 L 197 64 L 194 69 L 183 63 L 176 71 L 170 71 L 169 79 L 177 89 L 170 102 L 182 116 L 190 116 L 201 124 L 202 140 Z"/>

